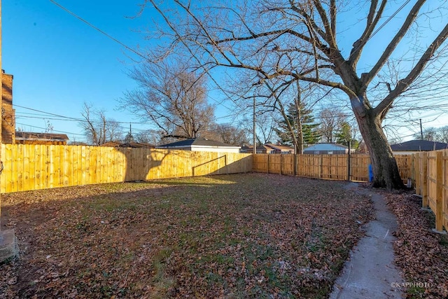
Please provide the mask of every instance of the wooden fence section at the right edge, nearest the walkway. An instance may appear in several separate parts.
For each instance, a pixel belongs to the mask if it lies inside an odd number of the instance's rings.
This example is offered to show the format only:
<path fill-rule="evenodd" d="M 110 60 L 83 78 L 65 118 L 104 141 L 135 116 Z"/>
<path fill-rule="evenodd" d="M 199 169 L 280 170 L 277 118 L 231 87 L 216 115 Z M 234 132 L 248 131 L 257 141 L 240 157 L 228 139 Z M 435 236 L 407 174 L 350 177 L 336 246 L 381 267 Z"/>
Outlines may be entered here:
<path fill-rule="evenodd" d="M 448 150 L 414 154 L 415 192 L 435 214 L 435 230 L 448 229 Z"/>

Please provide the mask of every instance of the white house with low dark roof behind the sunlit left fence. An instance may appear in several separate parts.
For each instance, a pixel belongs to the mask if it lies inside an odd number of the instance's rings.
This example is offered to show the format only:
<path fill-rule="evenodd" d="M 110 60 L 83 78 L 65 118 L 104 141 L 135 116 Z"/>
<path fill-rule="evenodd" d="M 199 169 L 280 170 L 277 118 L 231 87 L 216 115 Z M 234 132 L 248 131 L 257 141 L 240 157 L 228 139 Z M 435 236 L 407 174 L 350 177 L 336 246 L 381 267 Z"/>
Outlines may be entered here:
<path fill-rule="evenodd" d="M 239 153 L 241 146 L 232 146 L 231 144 L 224 144 L 223 142 L 194 138 L 181 141 L 172 142 L 171 144 L 164 144 L 156 148 L 165 148 L 183 151 L 213 151 L 226 153 Z"/>

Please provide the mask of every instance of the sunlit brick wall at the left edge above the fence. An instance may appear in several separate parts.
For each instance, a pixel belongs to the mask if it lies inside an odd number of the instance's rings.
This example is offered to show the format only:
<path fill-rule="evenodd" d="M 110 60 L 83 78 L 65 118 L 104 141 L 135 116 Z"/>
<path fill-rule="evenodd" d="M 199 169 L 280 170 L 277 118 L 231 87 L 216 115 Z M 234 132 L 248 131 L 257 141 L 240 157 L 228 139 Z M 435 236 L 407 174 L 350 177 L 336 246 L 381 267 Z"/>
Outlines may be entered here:
<path fill-rule="evenodd" d="M 13 75 L 1 71 L 3 102 L 1 104 L 1 142 L 15 144 L 15 109 L 13 109 Z"/>

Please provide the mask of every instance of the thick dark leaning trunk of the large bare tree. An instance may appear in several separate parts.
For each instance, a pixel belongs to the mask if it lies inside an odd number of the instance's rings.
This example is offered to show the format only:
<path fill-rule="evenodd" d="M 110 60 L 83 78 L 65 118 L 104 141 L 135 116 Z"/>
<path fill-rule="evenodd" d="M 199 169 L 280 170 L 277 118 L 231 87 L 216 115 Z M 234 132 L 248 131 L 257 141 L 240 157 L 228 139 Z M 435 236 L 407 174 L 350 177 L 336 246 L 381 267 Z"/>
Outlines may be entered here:
<path fill-rule="evenodd" d="M 387 188 L 388 190 L 403 188 L 397 162 L 381 127 L 380 117 L 374 115 L 371 109 L 364 111 L 365 115 L 362 116 L 356 109 L 353 111 L 369 151 L 373 169 L 373 187 Z"/>

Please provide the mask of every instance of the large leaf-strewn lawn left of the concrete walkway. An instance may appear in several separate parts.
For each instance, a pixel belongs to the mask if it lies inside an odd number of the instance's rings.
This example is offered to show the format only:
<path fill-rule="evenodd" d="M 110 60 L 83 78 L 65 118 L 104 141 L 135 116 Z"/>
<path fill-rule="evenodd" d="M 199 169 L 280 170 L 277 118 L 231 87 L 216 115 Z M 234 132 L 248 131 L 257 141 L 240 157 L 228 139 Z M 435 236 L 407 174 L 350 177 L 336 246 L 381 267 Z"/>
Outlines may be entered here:
<path fill-rule="evenodd" d="M 20 258 L 0 298 L 325 298 L 366 197 L 269 174 L 2 195 Z"/>

